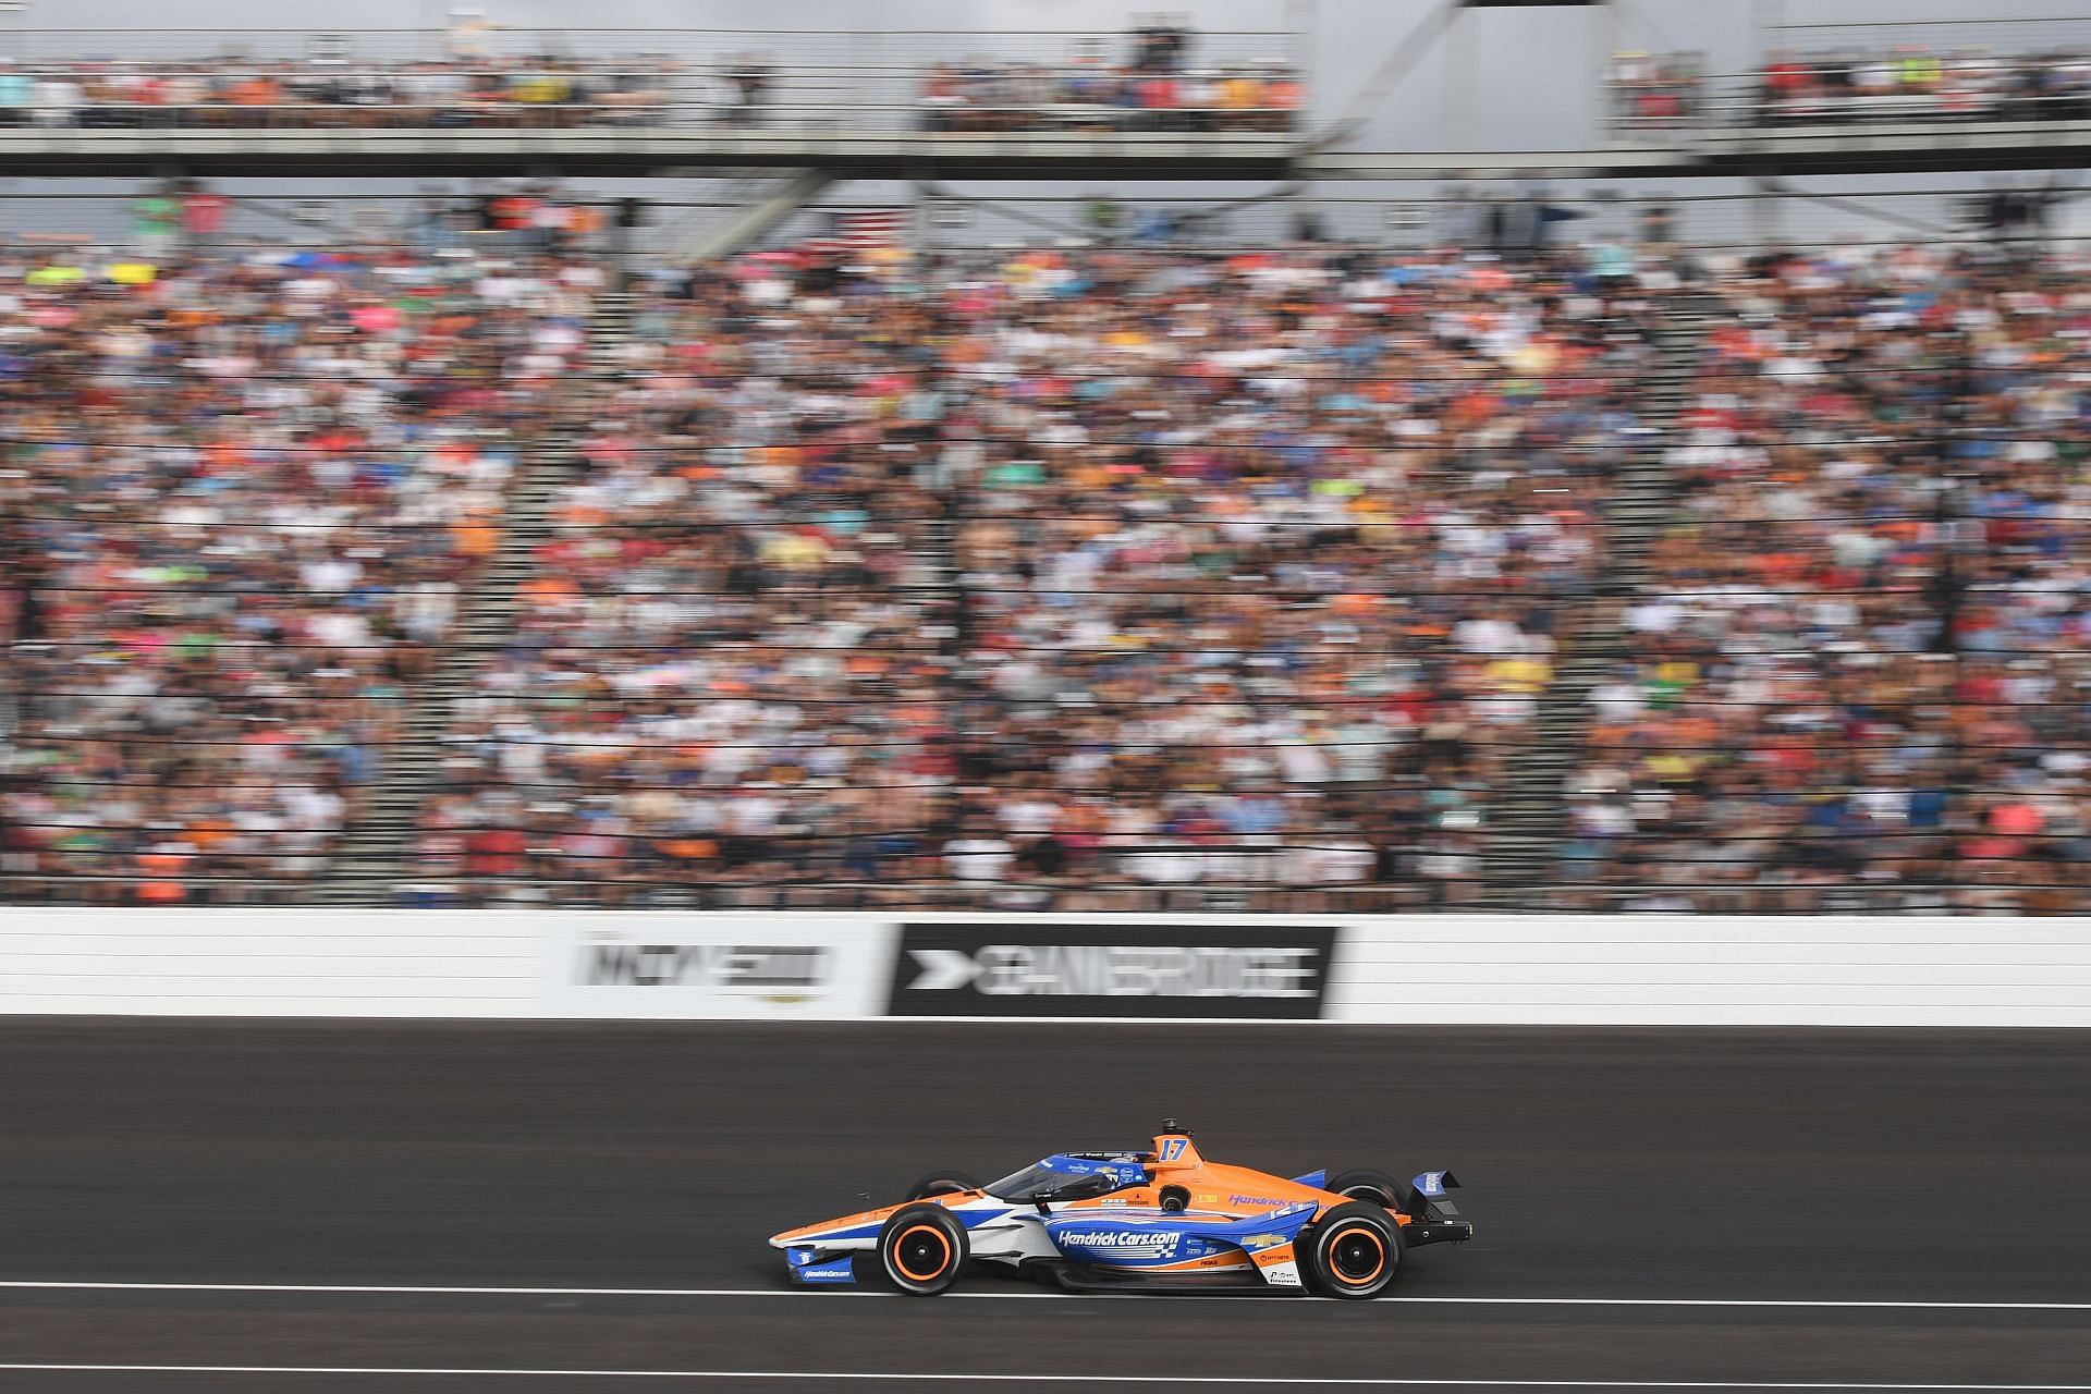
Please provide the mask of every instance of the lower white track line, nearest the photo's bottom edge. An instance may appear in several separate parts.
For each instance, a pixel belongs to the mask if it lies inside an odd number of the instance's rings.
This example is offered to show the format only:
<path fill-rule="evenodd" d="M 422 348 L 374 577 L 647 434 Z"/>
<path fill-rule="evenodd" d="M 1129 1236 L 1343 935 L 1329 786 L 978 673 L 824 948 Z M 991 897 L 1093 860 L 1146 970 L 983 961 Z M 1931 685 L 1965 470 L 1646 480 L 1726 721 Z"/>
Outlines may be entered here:
<path fill-rule="evenodd" d="M 1399 1375 L 1363 1375 L 1313 1379 L 1305 1375 L 956 1375 L 956 1373 L 893 1373 L 868 1371 L 782 1371 L 782 1369 L 443 1369 L 443 1367 L 362 1367 L 362 1365 L 0 1365 L 0 1371 L 94 1373 L 94 1375 L 376 1375 L 460 1379 L 824 1379 L 832 1384 L 868 1384 L 874 1379 L 905 1384 L 1081 1384 L 1081 1386 L 1148 1386 L 1202 1384 L 1261 1390 L 1328 1390 L 1328 1388 L 1403 1388 L 1403 1390 L 1867 1390 L 1867 1392 L 1943 1392 L 1943 1394 L 2091 1394 L 2091 1384 L 1853 1384 L 1840 1379 L 1754 1381 L 1754 1379 L 1424 1379 Z"/>

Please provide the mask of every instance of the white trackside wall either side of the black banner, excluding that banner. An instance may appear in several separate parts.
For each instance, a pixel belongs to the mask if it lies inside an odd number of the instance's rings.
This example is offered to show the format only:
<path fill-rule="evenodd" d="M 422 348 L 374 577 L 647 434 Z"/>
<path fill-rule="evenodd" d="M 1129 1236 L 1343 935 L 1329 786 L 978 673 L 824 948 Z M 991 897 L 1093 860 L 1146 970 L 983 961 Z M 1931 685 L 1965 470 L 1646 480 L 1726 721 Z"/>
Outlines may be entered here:
<path fill-rule="evenodd" d="M 1242 915 L 916 915 L 1181 930 Z M 1338 926 L 1324 1018 L 1650 1026 L 2091 1026 L 2091 920 L 1386 915 Z M 592 947 L 650 953 L 588 978 Z M 0 909 L 0 1014 L 857 1018 L 891 989 L 884 915 Z M 803 972 L 795 976 L 797 963 Z M 663 953 L 665 951 L 665 953 Z M 1062 1007 L 1054 1007 L 1062 1009 Z M 1081 1016 L 1079 999 L 1066 1001 Z"/>

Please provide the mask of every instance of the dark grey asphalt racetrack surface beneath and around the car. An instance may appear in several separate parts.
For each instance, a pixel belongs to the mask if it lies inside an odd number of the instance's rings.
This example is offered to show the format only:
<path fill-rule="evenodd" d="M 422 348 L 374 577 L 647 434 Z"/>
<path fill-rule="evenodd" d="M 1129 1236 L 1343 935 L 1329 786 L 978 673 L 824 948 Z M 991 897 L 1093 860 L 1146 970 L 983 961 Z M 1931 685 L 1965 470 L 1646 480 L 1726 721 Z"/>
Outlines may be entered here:
<path fill-rule="evenodd" d="M 1165 1114 L 1451 1166 L 1478 1237 L 1370 1304 L 763 1246 Z M 2091 1032 L 0 1022 L 8 1394 L 1372 1381 L 2091 1392 Z"/>

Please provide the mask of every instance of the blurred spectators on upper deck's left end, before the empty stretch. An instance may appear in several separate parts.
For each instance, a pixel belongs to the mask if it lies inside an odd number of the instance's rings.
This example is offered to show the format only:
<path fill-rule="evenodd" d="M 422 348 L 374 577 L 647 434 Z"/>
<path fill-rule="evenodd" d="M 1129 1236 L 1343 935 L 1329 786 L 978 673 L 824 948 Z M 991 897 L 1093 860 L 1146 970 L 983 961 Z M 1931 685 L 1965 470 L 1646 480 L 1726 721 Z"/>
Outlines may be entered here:
<path fill-rule="evenodd" d="M 744 100 L 730 65 L 721 119 Z M 36 61 L 0 63 L 0 125 L 159 127 L 466 127 L 659 125 L 675 102 L 700 102 L 696 75 L 673 59 L 414 61 Z"/>

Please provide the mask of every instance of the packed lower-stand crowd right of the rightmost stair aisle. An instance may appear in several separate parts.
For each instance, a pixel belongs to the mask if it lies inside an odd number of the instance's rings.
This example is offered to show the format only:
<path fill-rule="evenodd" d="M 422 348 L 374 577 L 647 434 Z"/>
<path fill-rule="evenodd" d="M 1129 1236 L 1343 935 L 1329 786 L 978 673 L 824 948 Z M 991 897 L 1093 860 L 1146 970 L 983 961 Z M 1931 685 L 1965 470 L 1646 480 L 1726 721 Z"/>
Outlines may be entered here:
<path fill-rule="evenodd" d="M 1566 901 L 2091 907 L 2085 270 L 1899 249 L 1719 286 Z"/>

